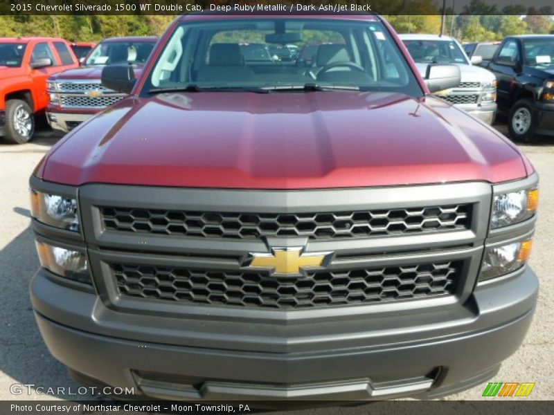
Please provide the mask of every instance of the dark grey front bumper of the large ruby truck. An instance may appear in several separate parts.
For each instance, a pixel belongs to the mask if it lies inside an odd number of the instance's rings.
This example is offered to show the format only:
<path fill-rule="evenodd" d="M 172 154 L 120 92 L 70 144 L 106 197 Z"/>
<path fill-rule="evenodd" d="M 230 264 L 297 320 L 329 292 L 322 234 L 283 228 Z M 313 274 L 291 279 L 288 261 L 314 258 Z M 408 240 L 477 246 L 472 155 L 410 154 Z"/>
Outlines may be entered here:
<path fill-rule="evenodd" d="M 464 304 L 393 321 L 271 324 L 272 337 L 260 334 L 263 321 L 122 317 L 44 270 L 30 291 L 53 356 L 99 384 L 134 387 L 144 398 L 371 400 L 434 398 L 494 376 L 524 339 L 538 280 L 526 267 L 480 284 Z M 222 347 L 226 338 L 250 347 Z"/>

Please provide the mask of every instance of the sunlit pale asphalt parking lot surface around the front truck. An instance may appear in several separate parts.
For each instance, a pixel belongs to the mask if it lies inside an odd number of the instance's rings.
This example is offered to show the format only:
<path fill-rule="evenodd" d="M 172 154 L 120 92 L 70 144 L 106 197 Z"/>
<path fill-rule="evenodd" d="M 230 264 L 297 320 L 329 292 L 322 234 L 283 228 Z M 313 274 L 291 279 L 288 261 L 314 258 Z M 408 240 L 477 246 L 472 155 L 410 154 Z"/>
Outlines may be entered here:
<path fill-rule="evenodd" d="M 506 127 L 497 128 L 506 133 Z M 10 393 L 14 383 L 42 387 L 77 385 L 54 360 L 42 342 L 33 318 L 28 284 L 39 266 L 30 230 L 28 177 L 33 168 L 59 136 L 43 129 L 26 145 L 0 142 L 0 399 L 74 399 L 63 394 L 54 396 L 16 396 Z M 494 380 L 500 382 L 535 382 L 530 398 L 554 398 L 554 140 L 543 139 L 523 146 L 525 154 L 541 175 L 540 215 L 535 235 L 531 265 L 541 281 L 539 304 L 530 333 L 523 346 L 503 365 Z M 448 400 L 481 399 L 485 385 L 449 396 Z M 87 397 L 85 397 L 87 398 Z M 90 397 L 89 397 L 90 398 Z M 314 409 L 310 414 L 359 414 L 364 407 Z"/>

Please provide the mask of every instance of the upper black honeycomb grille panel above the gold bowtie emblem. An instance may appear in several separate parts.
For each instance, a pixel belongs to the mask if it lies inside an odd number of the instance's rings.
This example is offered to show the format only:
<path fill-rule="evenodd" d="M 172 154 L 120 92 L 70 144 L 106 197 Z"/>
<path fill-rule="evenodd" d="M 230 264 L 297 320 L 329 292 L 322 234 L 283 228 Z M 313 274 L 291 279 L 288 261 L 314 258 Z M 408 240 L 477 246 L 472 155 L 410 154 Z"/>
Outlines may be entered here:
<path fill-rule="evenodd" d="M 470 204 L 355 212 L 254 214 L 100 208 L 105 229 L 231 239 L 373 237 L 470 228 Z"/>

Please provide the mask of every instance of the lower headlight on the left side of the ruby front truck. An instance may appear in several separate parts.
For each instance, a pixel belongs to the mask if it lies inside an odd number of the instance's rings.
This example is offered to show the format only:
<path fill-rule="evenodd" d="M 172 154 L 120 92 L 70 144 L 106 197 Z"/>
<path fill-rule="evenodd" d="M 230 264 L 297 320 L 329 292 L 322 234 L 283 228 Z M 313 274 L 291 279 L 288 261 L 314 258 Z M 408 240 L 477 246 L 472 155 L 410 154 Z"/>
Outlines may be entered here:
<path fill-rule="evenodd" d="M 51 273 L 84 284 L 92 284 L 87 255 L 83 251 L 70 250 L 37 241 L 37 252 L 40 265 Z"/>

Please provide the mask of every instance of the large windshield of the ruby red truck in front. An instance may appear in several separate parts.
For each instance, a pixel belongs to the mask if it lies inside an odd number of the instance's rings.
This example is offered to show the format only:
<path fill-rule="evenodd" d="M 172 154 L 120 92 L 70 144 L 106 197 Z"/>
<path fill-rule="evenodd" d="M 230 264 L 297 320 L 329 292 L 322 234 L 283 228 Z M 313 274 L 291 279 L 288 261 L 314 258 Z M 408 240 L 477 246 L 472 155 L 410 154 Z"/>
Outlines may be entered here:
<path fill-rule="evenodd" d="M 265 17 L 177 26 L 141 94 L 165 89 L 301 92 L 314 86 L 318 91 L 422 95 L 380 22 Z"/>

